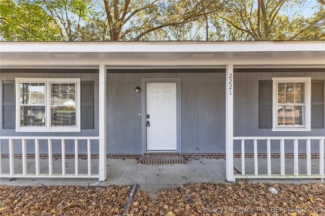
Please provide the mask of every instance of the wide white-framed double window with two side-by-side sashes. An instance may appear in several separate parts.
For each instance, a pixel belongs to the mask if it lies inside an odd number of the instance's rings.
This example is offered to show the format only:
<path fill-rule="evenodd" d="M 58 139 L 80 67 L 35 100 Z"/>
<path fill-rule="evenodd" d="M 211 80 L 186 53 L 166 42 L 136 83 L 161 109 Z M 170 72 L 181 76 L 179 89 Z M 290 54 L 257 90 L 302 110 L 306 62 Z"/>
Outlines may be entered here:
<path fill-rule="evenodd" d="M 80 131 L 80 79 L 16 78 L 16 131 Z"/>

